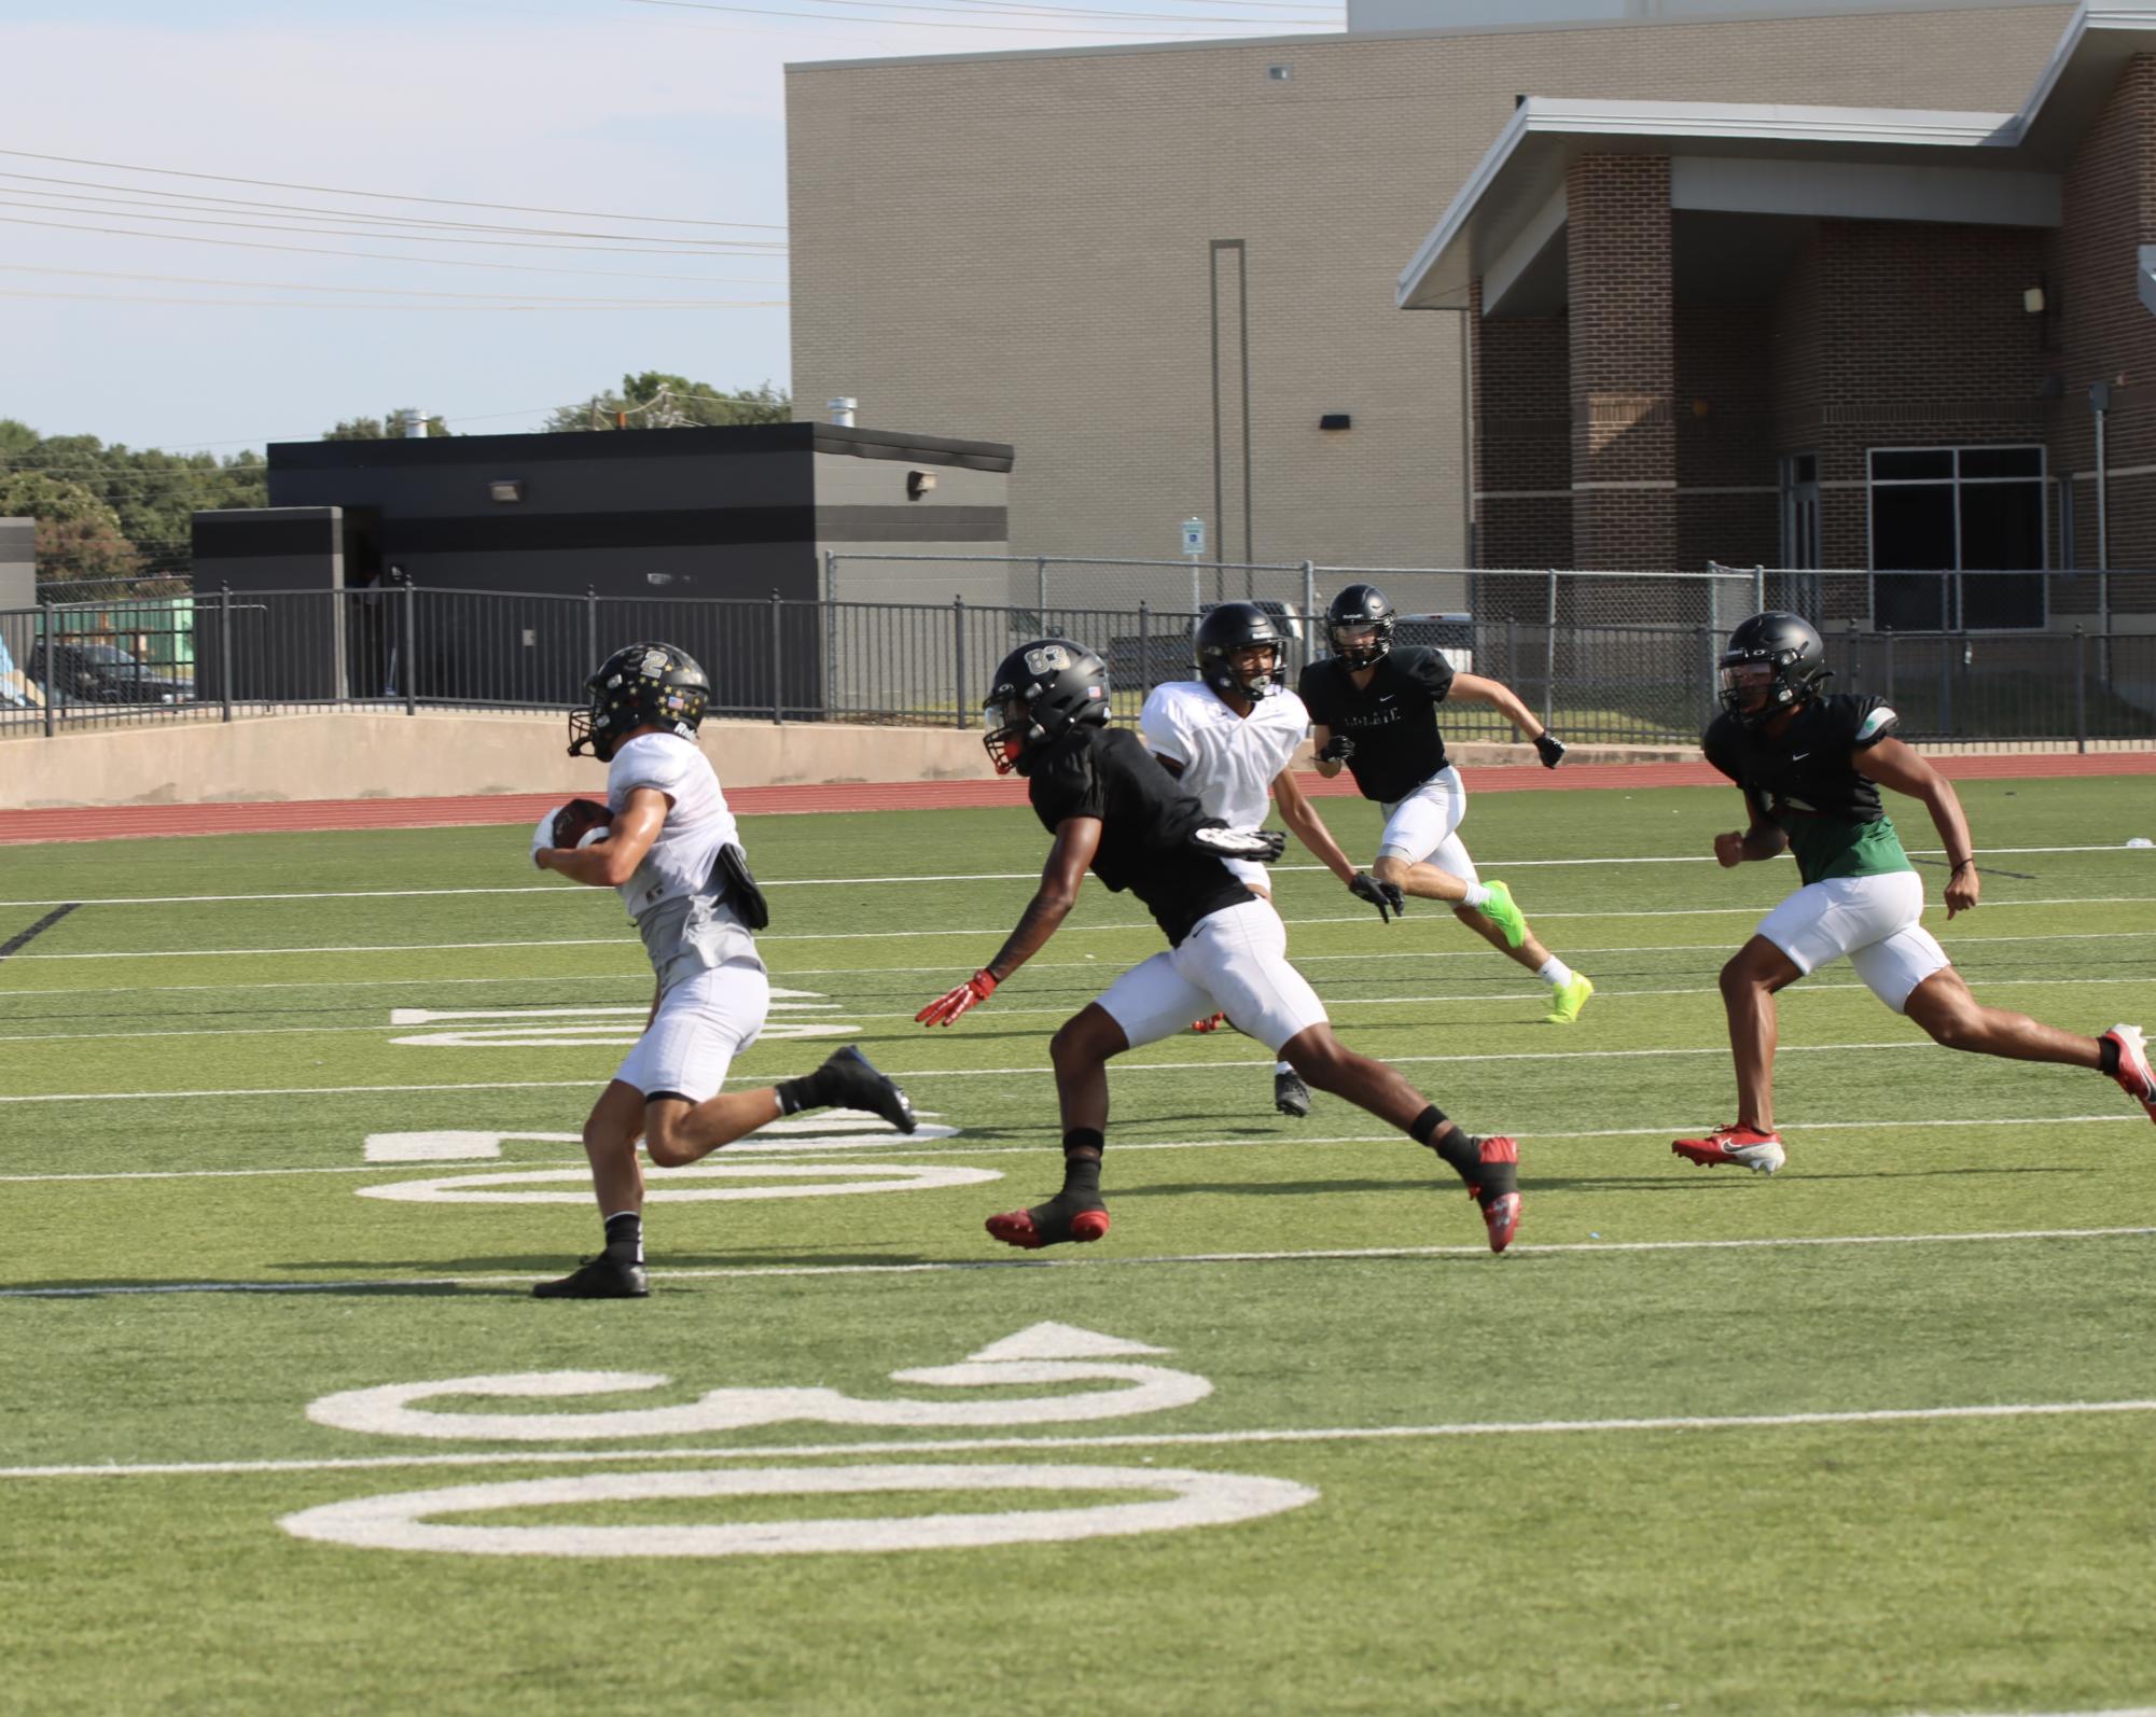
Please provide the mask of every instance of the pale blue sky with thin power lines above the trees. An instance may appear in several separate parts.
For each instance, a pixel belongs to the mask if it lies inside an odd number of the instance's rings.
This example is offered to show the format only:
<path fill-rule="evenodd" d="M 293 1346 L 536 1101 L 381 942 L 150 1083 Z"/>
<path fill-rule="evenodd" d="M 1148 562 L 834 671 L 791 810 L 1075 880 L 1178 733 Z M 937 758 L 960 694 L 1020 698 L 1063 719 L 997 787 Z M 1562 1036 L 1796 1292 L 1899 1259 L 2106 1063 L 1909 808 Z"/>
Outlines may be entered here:
<path fill-rule="evenodd" d="M 399 405 L 459 431 L 537 429 L 550 407 L 642 368 L 787 386 L 785 62 L 1087 45 L 1141 28 L 1285 34 L 1337 17 L 1330 0 L 1067 0 L 1207 22 L 998 11 L 977 28 L 962 9 L 1056 0 L 735 2 L 837 17 L 653 0 L 0 0 L 0 416 L 47 435 L 231 452 Z M 1089 32 L 1050 32 L 1074 22 Z M 621 239 L 541 250 L 530 233 L 474 246 L 349 224 L 386 213 Z M 209 220 L 252 224 L 196 224 Z M 718 239 L 768 248 L 718 254 Z M 632 246 L 677 254 L 602 254 Z M 541 297 L 602 304 L 520 308 Z M 642 308 L 653 299 L 677 308 Z"/>

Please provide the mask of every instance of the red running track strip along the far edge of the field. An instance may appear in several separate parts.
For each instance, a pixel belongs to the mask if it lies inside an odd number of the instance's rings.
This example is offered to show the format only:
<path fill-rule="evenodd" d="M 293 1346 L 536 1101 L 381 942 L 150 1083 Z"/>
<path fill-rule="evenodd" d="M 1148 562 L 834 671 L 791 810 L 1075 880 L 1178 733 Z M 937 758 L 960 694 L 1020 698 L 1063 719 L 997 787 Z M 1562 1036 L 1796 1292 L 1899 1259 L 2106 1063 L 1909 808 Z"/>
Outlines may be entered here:
<path fill-rule="evenodd" d="M 1953 780 L 2055 780 L 2063 776 L 2156 776 L 2156 752 L 1999 752 L 1934 758 Z M 1348 797 L 1348 776 L 1304 773 L 1307 793 Z M 1563 788 L 1718 786 L 1705 763 L 1583 763 L 1565 769 L 1481 767 L 1468 771 L 1475 793 L 1544 793 Z M 272 804 L 75 806 L 17 810 L 0 827 L 0 844 L 41 840 L 127 840 L 155 834 L 276 834 L 306 829 L 440 829 L 474 823 L 537 823 L 561 793 L 489 793 L 464 799 L 280 799 Z M 847 782 L 837 786 L 740 786 L 727 795 L 744 816 L 789 816 L 832 810 L 962 810 L 1022 806 L 1020 780 Z"/>

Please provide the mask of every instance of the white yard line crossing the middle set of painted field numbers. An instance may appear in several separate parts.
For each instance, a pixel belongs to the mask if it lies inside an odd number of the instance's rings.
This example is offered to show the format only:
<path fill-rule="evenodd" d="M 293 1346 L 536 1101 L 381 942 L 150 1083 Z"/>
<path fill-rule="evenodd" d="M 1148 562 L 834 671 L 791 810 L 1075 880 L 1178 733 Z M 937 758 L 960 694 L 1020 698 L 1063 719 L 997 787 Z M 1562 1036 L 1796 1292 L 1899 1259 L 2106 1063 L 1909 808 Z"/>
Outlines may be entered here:
<path fill-rule="evenodd" d="M 1927 1120 L 1807 1120 L 1792 1131 L 1800 1133 L 1897 1133 L 1912 1127 L 1955 1127 L 1968 1131 L 1971 1127 L 2106 1127 L 2106 1125 L 2130 1125 L 2139 1127 L 2141 1116 L 2134 1114 L 2100 1114 L 2100 1116 L 1999 1116 L 1986 1120 L 1968 1120 L 1962 1116 L 1927 1118 Z M 1630 1140 L 1630 1137 L 1671 1137 L 1682 1135 L 1692 1129 L 1695 1120 L 1675 1120 L 1662 1127 L 1593 1127 L 1585 1131 L 1570 1133 L 1544 1133 L 1544 1131 L 1516 1131 L 1514 1137 L 1550 1144 L 1552 1140 Z M 1399 1133 L 1330 1133 L 1324 1137 L 1309 1137 L 1302 1133 L 1279 1133 L 1272 1137 L 1242 1137 L 1242 1140 L 1115 1140 L 1115 1155 L 1128 1157 L 1134 1150 L 1281 1150 L 1281 1148 L 1304 1148 L 1304 1146 L 1341 1146 L 1341 1144 L 1399 1144 Z M 893 1137 L 886 1142 L 877 1140 L 877 1148 L 899 1150 L 908 1157 L 1039 1157 L 1054 1148 L 1054 1142 L 1044 1137 L 1033 1144 L 914 1144 L 906 1137 Z M 839 1150 L 845 1157 L 858 1157 L 862 1146 L 849 1142 L 845 1146 L 834 1146 L 830 1140 L 800 1140 L 789 1142 L 785 1137 L 770 1137 L 752 1148 L 737 1150 L 731 1161 L 744 1159 L 783 1159 L 798 1161 L 802 1157 L 834 1157 Z M 489 1159 L 494 1161 L 494 1159 Z M 584 1168 L 584 1159 L 561 1161 L 535 1161 L 528 1157 L 500 1159 L 500 1168 L 537 1170 L 537 1168 Z M 280 1174 L 410 1174 L 412 1163 L 304 1163 L 291 1168 L 114 1168 L 114 1170 L 93 1170 L 93 1172 L 71 1172 L 71 1174 L 0 1174 L 0 1185 L 52 1185 L 71 1181 L 250 1181 L 261 1176 Z"/>

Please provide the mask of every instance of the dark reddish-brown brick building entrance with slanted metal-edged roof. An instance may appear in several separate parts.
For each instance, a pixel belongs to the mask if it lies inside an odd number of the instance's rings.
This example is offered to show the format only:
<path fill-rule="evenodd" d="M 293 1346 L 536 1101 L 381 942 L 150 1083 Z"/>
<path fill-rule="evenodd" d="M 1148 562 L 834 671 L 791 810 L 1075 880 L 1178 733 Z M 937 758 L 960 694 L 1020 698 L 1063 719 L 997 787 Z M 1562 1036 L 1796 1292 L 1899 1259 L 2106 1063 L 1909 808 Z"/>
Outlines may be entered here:
<path fill-rule="evenodd" d="M 2016 112 L 1520 101 L 1399 280 L 1466 308 L 1485 567 L 1871 569 L 1828 618 L 2156 631 L 2156 13 Z M 2098 437 L 2102 431 L 2102 446 Z"/>

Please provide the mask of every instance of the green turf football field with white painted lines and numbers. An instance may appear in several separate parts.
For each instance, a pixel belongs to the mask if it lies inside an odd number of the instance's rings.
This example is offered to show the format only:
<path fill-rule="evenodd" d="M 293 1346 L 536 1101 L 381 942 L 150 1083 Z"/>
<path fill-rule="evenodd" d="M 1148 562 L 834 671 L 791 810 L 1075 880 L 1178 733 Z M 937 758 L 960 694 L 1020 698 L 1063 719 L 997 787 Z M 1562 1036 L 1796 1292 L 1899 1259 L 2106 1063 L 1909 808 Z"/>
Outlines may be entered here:
<path fill-rule="evenodd" d="M 1984 907 L 1927 922 L 1979 997 L 2156 1025 L 2147 780 L 1962 797 Z M 595 1250 L 576 1129 L 649 974 L 522 829 L 0 849 L 0 941 L 82 903 L 0 961 L 9 1702 L 2156 1702 L 2156 1133 L 1843 967 L 1783 997 L 1789 1168 L 1671 1157 L 1731 1116 L 1714 974 L 1794 888 L 1699 860 L 1736 808 L 1475 799 L 1483 875 L 1598 985 L 1570 1030 L 1447 913 L 1384 926 L 1289 853 L 1341 1036 L 1522 1137 L 1505 1258 L 1429 1153 L 1274 1116 L 1229 1034 L 1119 1064 L 1102 1245 L 994 1245 L 1059 1178 L 1048 1032 L 1158 935 L 1089 885 L 929 1034 L 1031 816 L 750 819 L 787 993 L 737 1084 L 858 1041 L 925 1127 L 655 1174 L 642 1303 L 528 1299 Z"/>

